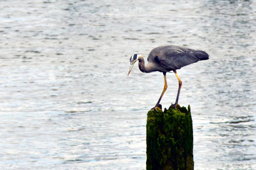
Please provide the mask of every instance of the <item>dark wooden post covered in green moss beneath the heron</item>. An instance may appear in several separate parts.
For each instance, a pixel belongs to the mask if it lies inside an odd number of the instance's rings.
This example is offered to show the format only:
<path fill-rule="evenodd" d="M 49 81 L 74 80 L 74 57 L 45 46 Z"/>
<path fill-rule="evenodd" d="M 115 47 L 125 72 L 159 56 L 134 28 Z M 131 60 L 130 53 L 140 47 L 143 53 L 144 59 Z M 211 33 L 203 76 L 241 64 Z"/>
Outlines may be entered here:
<path fill-rule="evenodd" d="M 190 106 L 148 111 L 147 170 L 193 170 Z"/>

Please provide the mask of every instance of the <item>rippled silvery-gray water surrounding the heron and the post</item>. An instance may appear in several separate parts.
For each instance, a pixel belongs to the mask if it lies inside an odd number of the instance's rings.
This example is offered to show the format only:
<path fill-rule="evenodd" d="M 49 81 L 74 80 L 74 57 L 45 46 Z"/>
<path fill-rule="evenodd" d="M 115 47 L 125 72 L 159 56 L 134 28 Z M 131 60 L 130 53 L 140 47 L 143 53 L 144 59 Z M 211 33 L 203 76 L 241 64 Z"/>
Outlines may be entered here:
<path fill-rule="evenodd" d="M 256 169 L 255 1 L 1 0 L 0 11 L 1 169 L 146 169 L 164 79 L 127 73 L 133 53 L 160 45 L 210 54 L 177 70 L 195 170 Z M 177 94 L 173 73 L 167 83 L 163 107 Z"/>

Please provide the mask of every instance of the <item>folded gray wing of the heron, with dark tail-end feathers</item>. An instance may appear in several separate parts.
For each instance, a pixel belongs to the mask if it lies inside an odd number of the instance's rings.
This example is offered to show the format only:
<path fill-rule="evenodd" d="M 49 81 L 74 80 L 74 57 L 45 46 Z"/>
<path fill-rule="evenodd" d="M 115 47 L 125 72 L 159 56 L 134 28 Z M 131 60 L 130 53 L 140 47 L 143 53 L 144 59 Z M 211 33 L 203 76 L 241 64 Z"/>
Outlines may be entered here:
<path fill-rule="evenodd" d="M 162 71 L 177 70 L 194 62 L 209 59 L 209 55 L 202 50 L 192 50 L 174 45 L 156 47 L 150 52 L 150 55 L 154 57 L 150 57 L 149 60 L 154 58 L 154 62 L 159 64 L 159 69 Z"/>

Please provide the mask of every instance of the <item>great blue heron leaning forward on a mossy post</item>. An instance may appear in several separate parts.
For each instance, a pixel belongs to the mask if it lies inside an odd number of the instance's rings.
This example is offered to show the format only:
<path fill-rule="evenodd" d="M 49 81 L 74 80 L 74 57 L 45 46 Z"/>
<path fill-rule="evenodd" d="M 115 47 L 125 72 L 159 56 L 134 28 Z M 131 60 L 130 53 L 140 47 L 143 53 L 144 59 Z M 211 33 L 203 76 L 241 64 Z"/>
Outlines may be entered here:
<path fill-rule="evenodd" d="M 158 108 L 161 98 L 164 95 L 165 90 L 167 89 L 166 72 L 174 71 L 175 75 L 179 80 L 179 89 L 176 101 L 174 105 L 172 104 L 172 107 L 176 109 L 179 100 L 180 88 L 182 86 L 182 81 L 180 80 L 176 70 L 194 62 L 208 59 L 209 55 L 202 50 L 192 50 L 186 47 L 179 47 L 174 45 L 160 46 L 151 50 L 148 55 L 148 64 L 146 66 L 142 55 L 132 55 L 130 58 L 131 66 L 128 75 L 130 74 L 136 61 L 139 61 L 138 67 L 142 72 L 148 73 L 153 71 L 159 71 L 164 74 L 164 90 L 158 102 L 156 103 L 156 106 L 151 109 L 156 110 L 156 108 Z"/>

